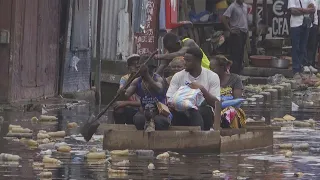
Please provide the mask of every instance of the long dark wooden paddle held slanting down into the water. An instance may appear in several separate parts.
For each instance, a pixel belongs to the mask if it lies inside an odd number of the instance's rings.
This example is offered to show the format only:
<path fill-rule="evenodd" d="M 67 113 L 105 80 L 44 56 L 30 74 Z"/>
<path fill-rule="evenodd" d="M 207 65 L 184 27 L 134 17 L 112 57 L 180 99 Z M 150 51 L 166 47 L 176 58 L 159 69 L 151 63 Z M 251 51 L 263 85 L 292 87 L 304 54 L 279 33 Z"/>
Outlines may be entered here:
<path fill-rule="evenodd" d="M 150 57 L 144 62 L 144 64 L 146 65 L 156 54 L 158 53 L 158 50 L 154 51 Z M 123 89 L 127 89 L 130 84 L 132 83 L 132 81 L 137 78 L 139 76 L 140 73 L 140 69 L 129 78 L 128 82 L 126 83 L 126 85 L 123 87 Z M 84 139 L 86 141 L 89 141 L 93 134 L 97 132 L 97 129 L 100 125 L 100 123 L 98 122 L 99 118 L 105 113 L 107 112 L 107 110 L 111 107 L 111 105 L 116 102 L 116 100 L 120 97 L 120 95 L 122 94 L 122 91 L 117 92 L 117 94 L 115 95 L 115 97 L 110 101 L 110 103 L 107 105 L 107 107 L 105 107 L 98 115 L 97 117 L 95 116 L 91 116 L 89 118 L 89 120 L 83 125 L 83 127 L 80 129 L 80 133 L 82 134 L 82 136 L 84 137 Z"/>

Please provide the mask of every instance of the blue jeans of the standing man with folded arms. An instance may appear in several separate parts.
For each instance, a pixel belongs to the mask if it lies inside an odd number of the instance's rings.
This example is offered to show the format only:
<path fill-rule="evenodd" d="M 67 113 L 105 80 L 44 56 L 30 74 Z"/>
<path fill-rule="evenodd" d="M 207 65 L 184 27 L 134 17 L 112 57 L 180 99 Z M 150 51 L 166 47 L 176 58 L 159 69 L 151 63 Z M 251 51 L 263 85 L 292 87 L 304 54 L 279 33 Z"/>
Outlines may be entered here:
<path fill-rule="evenodd" d="M 302 72 L 302 66 L 304 62 L 307 61 L 307 43 L 309 31 L 310 29 L 303 26 L 290 28 L 293 74 Z"/>

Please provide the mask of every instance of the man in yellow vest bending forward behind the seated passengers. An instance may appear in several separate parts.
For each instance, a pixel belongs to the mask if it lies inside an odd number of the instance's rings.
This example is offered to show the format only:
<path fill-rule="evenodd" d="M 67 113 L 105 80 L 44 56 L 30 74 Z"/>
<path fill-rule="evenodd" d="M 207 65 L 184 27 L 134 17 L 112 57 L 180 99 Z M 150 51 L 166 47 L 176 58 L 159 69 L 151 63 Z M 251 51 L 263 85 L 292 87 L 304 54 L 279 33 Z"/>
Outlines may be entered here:
<path fill-rule="evenodd" d="M 188 51 L 188 49 L 194 48 L 194 47 L 200 48 L 193 39 L 185 38 L 181 41 L 179 36 L 173 33 L 167 33 L 163 37 L 163 45 L 164 45 L 164 48 L 168 51 L 168 53 L 159 54 L 155 56 L 155 59 L 162 61 L 157 70 L 158 74 L 162 74 L 161 72 L 164 70 L 164 68 L 166 68 L 169 65 L 169 63 L 174 58 L 178 56 L 184 56 L 185 53 Z M 203 54 L 201 66 L 203 68 L 209 69 L 210 61 L 201 48 L 200 50 Z"/>

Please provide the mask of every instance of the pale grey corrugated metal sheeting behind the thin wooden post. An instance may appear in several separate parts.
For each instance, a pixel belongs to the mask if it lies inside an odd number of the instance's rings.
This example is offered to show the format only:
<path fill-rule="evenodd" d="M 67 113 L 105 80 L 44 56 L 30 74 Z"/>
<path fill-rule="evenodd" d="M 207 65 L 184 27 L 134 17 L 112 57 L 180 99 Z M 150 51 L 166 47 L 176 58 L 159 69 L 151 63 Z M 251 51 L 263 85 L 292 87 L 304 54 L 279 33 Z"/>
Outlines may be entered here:
<path fill-rule="evenodd" d="M 101 58 L 116 60 L 117 58 L 117 33 L 118 13 L 126 6 L 127 0 L 104 0 L 102 7 L 101 24 Z M 98 0 L 91 0 L 91 22 L 92 22 L 92 47 L 93 57 L 96 57 L 96 35 L 97 35 L 97 12 Z M 121 21 L 121 20 L 120 20 Z"/>

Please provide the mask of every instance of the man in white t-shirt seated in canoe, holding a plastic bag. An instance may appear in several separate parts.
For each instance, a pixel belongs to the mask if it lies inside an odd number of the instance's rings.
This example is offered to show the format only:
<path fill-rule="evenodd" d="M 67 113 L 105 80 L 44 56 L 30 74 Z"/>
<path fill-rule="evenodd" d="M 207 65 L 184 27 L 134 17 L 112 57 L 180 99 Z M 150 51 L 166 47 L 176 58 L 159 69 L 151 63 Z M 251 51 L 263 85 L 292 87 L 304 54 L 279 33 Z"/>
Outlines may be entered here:
<path fill-rule="evenodd" d="M 201 67 L 202 52 L 199 48 L 189 48 L 184 55 L 185 70 L 176 73 L 170 82 L 167 98 L 170 100 L 174 93 L 181 87 L 189 85 L 192 89 L 200 89 L 207 105 L 186 112 L 178 112 L 172 106 L 172 125 L 175 126 L 200 126 L 202 130 L 210 130 L 212 127 L 212 108 L 216 101 L 220 101 L 219 76 Z M 211 107 L 210 107 L 211 106 Z"/>

